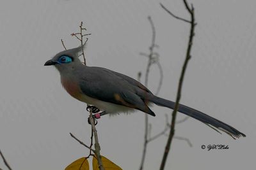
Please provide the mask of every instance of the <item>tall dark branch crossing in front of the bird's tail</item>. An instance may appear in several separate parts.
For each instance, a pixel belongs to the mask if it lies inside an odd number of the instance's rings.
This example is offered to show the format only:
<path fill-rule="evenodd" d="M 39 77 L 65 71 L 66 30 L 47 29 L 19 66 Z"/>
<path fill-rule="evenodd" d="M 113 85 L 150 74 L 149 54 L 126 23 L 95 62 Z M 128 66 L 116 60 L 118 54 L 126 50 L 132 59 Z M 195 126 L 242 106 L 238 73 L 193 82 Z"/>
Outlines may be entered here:
<path fill-rule="evenodd" d="M 185 72 L 186 72 L 186 68 L 188 66 L 188 61 L 191 58 L 190 52 L 191 52 L 191 47 L 193 45 L 193 37 L 195 35 L 195 32 L 194 32 L 194 29 L 195 29 L 194 8 L 193 8 L 193 6 L 191 6 L 191 8 L 189 8 L 188 3 L 187 3 L 186 0 L 183 0 L 183 2 L 184 2 L 184 5 L 186 6 L 186 9 L 188 10 L 188 12 L 191 15 L 191 22 L 189 22 L 191 24 L 191 27 L 190 27 L 188 48 L 187 48 L 187 52 L 186 52 L 186 59 L 185 59 L 184 64 L 182 66 L 182 72 L 180 74 L 179 86 L 178 86 L 178 90 L 177 90 L 177 97 L 176 97 L 176 101 L 175 101 L 175 107 L 174 107 L 173 112 L 172 112 L 172 123 L 171 123 L 170 134 L 169 134 L 169 137 L 168 137 L 165 149 L 164 149 L 164 155 L 163 155 L 163 159 L 162 159 L 161 166 L 160 166 L 161 170 L 164 169 L 164 166 L 166 164 L 166 159 L 168 157 L 168 153 L 170 151 L 172 139 L 173 139 L 173 136 L 174 136 L 174 133 L 175 133 L 175 120 L 176 120 L 177 110 L 179 108 L 179 101 L 180 101 L 180 97 L 181 97 L 182 83 L 183 83 L 183 80 L 184 80 L 184 75 L 185 75 Z"/>

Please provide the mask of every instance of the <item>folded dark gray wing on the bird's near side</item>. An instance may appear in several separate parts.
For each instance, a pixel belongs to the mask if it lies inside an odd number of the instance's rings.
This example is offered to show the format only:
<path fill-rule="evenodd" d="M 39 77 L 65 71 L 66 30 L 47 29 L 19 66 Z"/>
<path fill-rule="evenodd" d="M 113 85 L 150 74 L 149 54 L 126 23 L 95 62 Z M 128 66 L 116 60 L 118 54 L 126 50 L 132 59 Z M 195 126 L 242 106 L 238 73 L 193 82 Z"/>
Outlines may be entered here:
<path fill-rule="evenodd" d="M 136 80 L 130 83 L 131 80 L 125 80 L 124 76 L 118 76 L 113 71 L 100 67 L 84 67 L 82 72 L 79 87 L 87 96 L 100 101 L 135 108 L 155 116 L 143 99 L 136 94 L 136 91 L 140 89 L 136 86 Z M 126 79 L 129 77 L 127 76 Z"/>

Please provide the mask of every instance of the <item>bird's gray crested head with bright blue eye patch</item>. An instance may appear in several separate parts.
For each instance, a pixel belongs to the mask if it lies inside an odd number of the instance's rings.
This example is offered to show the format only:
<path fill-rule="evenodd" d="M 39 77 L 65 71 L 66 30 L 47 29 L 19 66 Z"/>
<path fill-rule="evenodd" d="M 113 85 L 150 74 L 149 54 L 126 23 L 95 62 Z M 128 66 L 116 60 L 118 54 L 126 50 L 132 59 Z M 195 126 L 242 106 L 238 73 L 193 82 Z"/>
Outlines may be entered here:
<path fill-rule="evenodd" d="M 79 46 L 77 48 L 59 52 L 52 57 L 51 60 L 47 60 L 44 66 L 55 66 L 60 73 L 70 71 L 82 64 L 81 60 L 79 60 L 79 52 L 81 52 L 81 50 L 82 48 Z"/>

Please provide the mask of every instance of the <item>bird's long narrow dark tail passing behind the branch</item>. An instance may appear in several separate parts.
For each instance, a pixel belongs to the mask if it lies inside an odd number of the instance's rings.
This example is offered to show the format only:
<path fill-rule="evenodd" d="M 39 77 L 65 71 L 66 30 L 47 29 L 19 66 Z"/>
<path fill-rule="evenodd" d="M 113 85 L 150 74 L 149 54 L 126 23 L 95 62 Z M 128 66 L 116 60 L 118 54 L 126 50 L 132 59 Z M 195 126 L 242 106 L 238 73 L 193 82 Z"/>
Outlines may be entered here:
<path fill-rule="evenodd" d="M 157 96 L 150 96 L 149 101 L 159 105 L 159 106 L 164 106 L 167 108 L 173 109 L 175 106 L 175 103 L 173 101 L 168 101 L 166 99 L 162 99 Z M 245 137 L 245 134 L 242 132 L 237 131 L 234 127 L 225 124 L 224 122 L 221 122 L 220 120 L 217 120 L 216 118 L 210 117 L 209 115 L 206 115 L 205 113 L 202 113 L 201 111 L 195 110 L 193 108 L 189 108 L 188 106 L 185 106 L 183 104 L 179 104 L 179 110 L 180 113 L 184 113 L 185 115 L 188 115 L 189 117 L 193 117 L 204 124 L 207 124 L 211 127 L 214 126 L 220 131 L 226 132 L 232 138 L 236 137 L 239 138 L 241 136 Z M 212 127 L 213 128 L 213 127 Z M 235 139 L 235 138 L 234 138 Z"/>

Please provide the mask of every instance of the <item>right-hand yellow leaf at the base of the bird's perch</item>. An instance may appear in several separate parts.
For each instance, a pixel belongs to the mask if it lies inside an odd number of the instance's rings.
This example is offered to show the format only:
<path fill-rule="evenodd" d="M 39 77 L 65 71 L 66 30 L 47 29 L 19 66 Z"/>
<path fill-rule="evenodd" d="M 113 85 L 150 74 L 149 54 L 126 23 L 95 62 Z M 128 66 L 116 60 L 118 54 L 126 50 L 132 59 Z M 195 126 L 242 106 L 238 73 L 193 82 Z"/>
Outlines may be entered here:
<path fill-rule="evenodd" d="M 101 160 L 105 170 L 122 170 L 121 167 L 117 166 L 106 157 L 101 156 Z M 93 157 L 92 159 L 92 167 L 93 167 L 93 170 L 99 170 L 98 161 L 95 157 Z"/>

